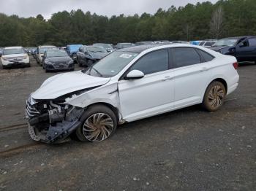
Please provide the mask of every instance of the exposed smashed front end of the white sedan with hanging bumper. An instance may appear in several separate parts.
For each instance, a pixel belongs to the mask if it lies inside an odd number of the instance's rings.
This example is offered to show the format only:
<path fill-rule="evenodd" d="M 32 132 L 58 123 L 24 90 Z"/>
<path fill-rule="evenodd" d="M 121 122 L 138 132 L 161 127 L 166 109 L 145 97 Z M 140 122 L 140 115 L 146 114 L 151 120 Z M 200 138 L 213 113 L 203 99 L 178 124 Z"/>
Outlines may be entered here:
<path fill-rule="evenodd" d="M 26 101 L 29 135 L 34 141 L 58 143 L 66 139 L 80 125 L 84 109 L 65 104 L 63 98 Z"/>

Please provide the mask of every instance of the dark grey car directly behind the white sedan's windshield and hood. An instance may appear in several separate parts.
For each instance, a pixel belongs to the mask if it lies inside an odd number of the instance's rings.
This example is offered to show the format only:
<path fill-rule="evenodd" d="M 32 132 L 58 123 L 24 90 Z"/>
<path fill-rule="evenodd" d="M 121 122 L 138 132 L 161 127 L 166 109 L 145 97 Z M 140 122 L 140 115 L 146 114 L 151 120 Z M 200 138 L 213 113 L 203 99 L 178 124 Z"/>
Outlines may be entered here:
<path fill-rule="evenodd" d="M 77 62 L 79 66 L 91 66 L 109 53 L 103 47 L 83 46 L 79 48 Z"/>

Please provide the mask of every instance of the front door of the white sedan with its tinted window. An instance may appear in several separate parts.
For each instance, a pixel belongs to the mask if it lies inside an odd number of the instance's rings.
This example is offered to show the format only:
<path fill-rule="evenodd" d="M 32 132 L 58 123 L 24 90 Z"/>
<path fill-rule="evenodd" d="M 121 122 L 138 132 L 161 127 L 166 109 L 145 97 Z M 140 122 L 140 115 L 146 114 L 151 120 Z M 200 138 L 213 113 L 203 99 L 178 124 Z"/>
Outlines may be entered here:
<path fill-rule="evenodd" d="M 124 120 L 139 120 L 173 109 L 173 71 L 169 69 L 167 49 L 144 55 L 132 70 L 142 71 L 145 77 L 118 82 Z"/>

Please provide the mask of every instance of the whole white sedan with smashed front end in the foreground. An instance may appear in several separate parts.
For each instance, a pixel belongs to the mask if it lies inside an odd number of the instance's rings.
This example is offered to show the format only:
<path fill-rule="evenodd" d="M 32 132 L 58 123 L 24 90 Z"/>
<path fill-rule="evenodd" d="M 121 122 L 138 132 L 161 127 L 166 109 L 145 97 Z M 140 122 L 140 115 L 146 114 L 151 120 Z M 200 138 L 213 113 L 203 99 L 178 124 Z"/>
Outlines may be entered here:
<path fill-rule="evenodd" d="M 194 104 L 222 106 L 238 86 L 232 56 L 189 44 L 144 45 L 117 50 L 82 71 L 47 79 L 26 102 L 29 134 L 60 142 L 103 141 L 118 124 Z"/>

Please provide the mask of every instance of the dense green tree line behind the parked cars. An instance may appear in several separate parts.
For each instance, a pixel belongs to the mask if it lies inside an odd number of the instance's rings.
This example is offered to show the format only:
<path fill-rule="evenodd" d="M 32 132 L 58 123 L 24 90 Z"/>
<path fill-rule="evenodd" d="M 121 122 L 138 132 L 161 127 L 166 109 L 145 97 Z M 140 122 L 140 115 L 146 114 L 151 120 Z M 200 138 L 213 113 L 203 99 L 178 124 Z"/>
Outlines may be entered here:
<path fill-rule="evenodd" d="M 154 14 L 113 15 L 83 12 L 54 13 L 49 20 L 0 13 L 0 47 L 39 44 L 92 44 L 157 40 L 199 40 L 256 35 L 255 0 L 219 0 L 171 6 Z"/>

